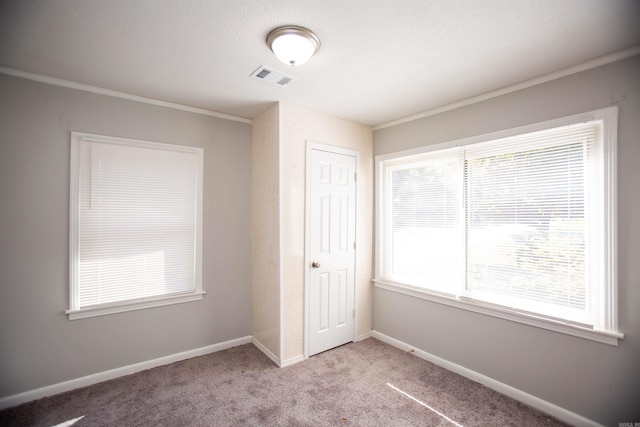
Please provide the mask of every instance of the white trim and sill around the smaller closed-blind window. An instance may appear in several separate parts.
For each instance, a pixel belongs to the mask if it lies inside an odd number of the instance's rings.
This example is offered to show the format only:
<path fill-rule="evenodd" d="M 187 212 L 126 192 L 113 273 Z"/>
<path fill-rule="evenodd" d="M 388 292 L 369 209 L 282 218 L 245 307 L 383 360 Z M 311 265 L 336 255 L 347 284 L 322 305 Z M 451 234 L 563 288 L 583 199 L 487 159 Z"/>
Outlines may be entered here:
<path fill-rule="evenodd" d="M 199 153 L 198 164 L 198 184 L 202 186 L 204 176 L 203 149 L 197 147 L 178 146 L 159 142 L 150 142 L 129 138 L 118 138 L 112 136 L 94 135 L 82 132 L 71 132 L 71 165 L 70 165 L 70 197 L 69 197 L 69 309 L 65 310 L 69 320 L 85 319 L 88 317 L 104 316 L 109 314 L 123 313 L 133 310 L 142 310 L 153 307 L 162 307 L 172 304 L 200 301 L 206 292 L 202 287 L 202 206 L 203 192 L 197 192 L 196 209 L 196 277 L 195 289 L 193 292 L 181 292 L 173 295 L 159 295 L 155 297 L 141 298 L 102 304 L 96 307 L 78 308 L 78 261 L 80 257 L 80 164 L 79 150 L 77 146 L 81 141 L 110 142 L 115 144 L 126 144 L 137 147 L 158 148 L 164 146 L 174 151 Z"/>

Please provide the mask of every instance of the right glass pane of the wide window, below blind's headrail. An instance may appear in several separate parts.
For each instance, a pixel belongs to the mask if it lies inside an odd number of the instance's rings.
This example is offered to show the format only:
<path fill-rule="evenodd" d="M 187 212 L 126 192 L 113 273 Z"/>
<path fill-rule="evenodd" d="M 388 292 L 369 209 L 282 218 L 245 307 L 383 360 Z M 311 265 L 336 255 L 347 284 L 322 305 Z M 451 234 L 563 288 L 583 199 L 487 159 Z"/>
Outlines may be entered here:
<path fill-rule="evenodd" d="M 467 289 L 587 309 L 585 144 L 465 162 Z"/>

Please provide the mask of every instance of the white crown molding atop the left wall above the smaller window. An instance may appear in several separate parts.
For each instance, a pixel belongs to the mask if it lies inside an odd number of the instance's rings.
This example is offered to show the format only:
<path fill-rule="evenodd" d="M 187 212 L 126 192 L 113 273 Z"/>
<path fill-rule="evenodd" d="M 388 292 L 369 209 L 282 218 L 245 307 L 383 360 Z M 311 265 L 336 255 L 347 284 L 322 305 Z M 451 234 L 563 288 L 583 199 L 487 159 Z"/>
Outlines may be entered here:
<path fill-rule="evenodd" d="M 21 77 L 27 80 L 33 80 L 40 83 L 47 83 L 54 86 L 61 86 L 70 89 L 82 90 L 84 92 L 96 93 L 98 95 L 106 95 L 114 98 L 127 99 L 129 101 L 137 101 L 145 104 L 157 105 L 160 107 L 173 108 L 174 110 L 188 111 L 190 113 L 203 114 L 205 116 L 216 117 L 219 119 L 232 120 L 234 122 L 251 124 L 251 119 L 245 117 L 233 116 L 231 114 L 219 113 L 217 111 L 206 110 L 204 108 L 191 107 L 189 105 L 177 104 L 175 102 L 162 101 L 159 99 L 147 98 L 144 96 L 133 95 L 117 90 L 104 89 L 97 86 L 91 86 L 84 83 L 76 83 L 69 80 L 63 80 L 56 77 L 44 76 L 42 74 L 30 73 L 28 71 L 16 70 L 14 68 L 0 66 L 0 73 L 9 76 Z"/>

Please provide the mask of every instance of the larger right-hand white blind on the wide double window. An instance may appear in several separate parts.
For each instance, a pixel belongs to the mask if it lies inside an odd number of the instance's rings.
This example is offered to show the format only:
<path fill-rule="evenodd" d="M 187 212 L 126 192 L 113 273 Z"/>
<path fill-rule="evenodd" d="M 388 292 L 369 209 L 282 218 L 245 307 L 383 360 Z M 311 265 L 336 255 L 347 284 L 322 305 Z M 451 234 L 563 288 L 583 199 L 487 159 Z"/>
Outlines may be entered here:
<path fill-rule="evenodd" d="M 589 165 L 599 127 L 466 147 L 467 297 L 590 323 Z"/>

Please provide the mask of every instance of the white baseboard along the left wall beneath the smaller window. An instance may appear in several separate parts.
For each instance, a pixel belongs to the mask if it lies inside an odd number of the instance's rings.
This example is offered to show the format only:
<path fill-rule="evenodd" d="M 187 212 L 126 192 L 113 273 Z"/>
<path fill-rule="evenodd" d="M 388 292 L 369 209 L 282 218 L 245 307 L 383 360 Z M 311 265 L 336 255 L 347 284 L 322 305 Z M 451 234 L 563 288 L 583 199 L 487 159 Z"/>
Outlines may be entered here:
<path fill-rule="evenodd" d="M 157 359 L 147 360 L 145 362 L 134 363 L 133 365 L 123 366 L 121 368 L 110 369 L 104 372 L 75 378 L 57 384 L 29 390 L 22 393 L 14 394 L 0 398 L 0 410 L 20 405 L 22 403 L 31 402 L 46 396 L 51 396 L 65 391 L 70 391 L 80 387 L 86 387 L 102 381 L 112 380 L 125 375 L 144 371 L 145 369 L 155 368 L 157 366 L 168 365 L 169 363 L 179 362 L 180 360 L 191 359 L 192 357 L 202 356 L 217 351 L 226 350 L 243 344 L 251 343 L 251 337 L 236 338 L 205 347 L 196 348 L 194 350 L 183 351 L 181 353 L 170 354 L 168 356 L 159 357 Z"/>

